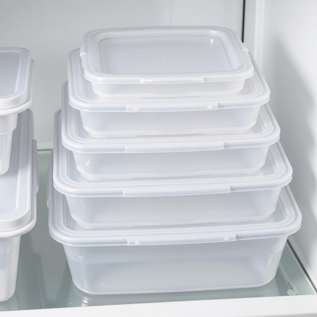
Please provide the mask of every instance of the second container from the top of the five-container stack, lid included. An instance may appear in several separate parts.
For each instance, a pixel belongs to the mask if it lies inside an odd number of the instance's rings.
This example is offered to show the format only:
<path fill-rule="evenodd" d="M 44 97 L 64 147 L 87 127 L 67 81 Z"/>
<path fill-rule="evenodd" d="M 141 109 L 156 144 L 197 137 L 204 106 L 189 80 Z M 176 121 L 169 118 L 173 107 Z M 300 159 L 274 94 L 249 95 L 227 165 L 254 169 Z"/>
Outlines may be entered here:
<path fill-rule="evenodd" d="M 159 135 L 242 132 L 255 125 L 270 90 L 259 68 L 235 95 L 101 99 L 84 78 L 79 50 L 68 54 L 69 104 L 92 135 Z M 63 92 L 64 93 L 64 92 Z"/>

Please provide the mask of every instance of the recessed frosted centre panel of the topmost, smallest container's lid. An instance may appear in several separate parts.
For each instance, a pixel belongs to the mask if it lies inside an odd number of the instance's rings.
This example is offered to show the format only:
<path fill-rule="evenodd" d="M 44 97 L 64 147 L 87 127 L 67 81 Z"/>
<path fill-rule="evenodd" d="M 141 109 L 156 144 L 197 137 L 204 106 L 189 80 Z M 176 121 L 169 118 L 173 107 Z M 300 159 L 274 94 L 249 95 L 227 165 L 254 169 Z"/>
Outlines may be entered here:
<path fill-rule="evenodd" d="M 107 74 L 204 74 L 240 66 L 212 34 L 105 38 L 98 44 L 101 70 Z"/>

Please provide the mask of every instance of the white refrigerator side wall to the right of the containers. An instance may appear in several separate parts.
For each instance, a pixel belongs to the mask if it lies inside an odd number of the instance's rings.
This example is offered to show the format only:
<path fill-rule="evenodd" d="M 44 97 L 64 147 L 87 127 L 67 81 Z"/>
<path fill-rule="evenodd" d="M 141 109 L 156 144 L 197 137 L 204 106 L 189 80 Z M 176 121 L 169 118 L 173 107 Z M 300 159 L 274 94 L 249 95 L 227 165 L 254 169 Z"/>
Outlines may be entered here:
<path fill-rule="evenodd" d="M 290 241 L 317 283 L 317 3 L 246 1 L 244 42 L 271 89 L 270 106 L 294 169 L 291 189 L 303 215 Z"/>

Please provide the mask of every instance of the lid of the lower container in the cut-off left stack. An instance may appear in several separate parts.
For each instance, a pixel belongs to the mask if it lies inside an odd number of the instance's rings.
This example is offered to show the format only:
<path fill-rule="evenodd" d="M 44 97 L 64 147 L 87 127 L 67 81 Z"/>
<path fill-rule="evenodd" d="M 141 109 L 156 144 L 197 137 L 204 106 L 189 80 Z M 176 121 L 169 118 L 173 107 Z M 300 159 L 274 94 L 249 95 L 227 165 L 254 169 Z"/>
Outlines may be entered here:
<path fill-rule="evenodd" d="M 0 238 L 18 236 L 36 222 L 37 153 L 30 110 L 18 115 L 9 170 L 0 177 Z M 35 200 L 35 202 L 33 202 Z"/>

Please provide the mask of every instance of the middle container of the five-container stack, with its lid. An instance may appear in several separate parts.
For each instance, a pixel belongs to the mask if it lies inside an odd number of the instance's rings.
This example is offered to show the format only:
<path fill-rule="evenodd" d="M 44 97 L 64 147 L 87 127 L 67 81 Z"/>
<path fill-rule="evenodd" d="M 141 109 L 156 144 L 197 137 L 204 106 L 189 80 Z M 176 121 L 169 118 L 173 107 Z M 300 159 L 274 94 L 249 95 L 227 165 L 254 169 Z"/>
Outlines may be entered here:
<path fill-rule="evenodd" d="M 97 138 L 83 128 L 79 111 L 69 106 L 65 93 L 58 135 L 87 178 L 188 177 L 258 171 L 280 128 L 266 105 L 245 133 Z"/>

